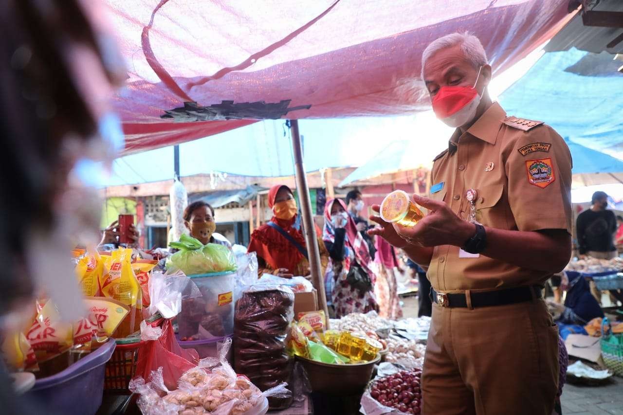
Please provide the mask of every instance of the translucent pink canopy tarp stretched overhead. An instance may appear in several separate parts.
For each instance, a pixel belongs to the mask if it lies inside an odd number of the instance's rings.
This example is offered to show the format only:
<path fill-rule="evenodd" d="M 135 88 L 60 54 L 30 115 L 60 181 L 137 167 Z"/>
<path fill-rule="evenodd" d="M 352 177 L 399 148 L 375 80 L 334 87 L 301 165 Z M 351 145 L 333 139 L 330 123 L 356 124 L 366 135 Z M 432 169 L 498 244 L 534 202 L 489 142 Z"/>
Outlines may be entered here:
<path fill-rule="evenodd" d="M 478 36 L 498 74 L 568 19 L 568 0 L 106 0 L 128 66 L 125 154 L 261 118 L 401 115 L 429 106 L 421 54 Z"/>

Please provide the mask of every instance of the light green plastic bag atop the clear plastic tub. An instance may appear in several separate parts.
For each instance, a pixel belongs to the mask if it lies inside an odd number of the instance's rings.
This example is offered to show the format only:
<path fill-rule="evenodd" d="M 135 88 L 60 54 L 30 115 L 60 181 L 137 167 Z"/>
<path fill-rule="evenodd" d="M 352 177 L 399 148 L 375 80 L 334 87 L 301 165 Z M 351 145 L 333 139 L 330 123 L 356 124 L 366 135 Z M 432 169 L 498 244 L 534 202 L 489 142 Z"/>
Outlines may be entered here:
<path fill-rule="evenodd" d="M 179 242 L 171 242 L 169 246 L 179 251 L 166 260 L 167 270 L 181 270 L 186 275 L 236 270 L 234 253 L 224 245 L 204 245 L 198 239 L 183 234 Z"/>

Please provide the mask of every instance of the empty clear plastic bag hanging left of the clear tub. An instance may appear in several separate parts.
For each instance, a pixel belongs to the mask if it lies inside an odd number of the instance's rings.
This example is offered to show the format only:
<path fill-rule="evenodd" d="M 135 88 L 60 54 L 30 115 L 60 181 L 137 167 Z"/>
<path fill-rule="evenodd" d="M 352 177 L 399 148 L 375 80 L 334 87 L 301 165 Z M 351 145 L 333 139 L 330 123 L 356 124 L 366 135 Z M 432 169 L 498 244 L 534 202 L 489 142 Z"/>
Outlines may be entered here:
<path fill-rule="evenodd" d="M 201 291 L 180 270 L 164 274 L 155 270 L 150 279 L 150 315 L 159 312 L 164 318 L 173 318 L 182 310 L 182 300 L 201 297 Z"/>

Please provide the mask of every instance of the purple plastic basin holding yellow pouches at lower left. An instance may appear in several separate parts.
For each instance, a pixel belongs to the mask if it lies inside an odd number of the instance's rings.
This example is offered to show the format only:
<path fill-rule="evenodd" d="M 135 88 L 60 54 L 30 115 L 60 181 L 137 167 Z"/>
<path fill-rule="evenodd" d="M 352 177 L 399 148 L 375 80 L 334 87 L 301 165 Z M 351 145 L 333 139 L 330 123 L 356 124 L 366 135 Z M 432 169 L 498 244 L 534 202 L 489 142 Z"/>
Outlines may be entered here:
<path fill-rule="evenodd" d="M 64 371 L 37 380 L 25 396 L 50 413 L 95 414 L 102 404 L 104 368 L 113 351 L 115 341 L 108 340 Z"/>

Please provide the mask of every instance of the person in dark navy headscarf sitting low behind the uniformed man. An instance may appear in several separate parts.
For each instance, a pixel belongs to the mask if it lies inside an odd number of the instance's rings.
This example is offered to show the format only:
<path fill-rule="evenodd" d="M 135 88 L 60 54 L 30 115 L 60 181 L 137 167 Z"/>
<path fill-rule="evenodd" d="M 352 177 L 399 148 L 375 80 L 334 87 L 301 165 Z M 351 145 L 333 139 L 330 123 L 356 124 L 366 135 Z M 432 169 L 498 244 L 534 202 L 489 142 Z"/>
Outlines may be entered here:
<path fill-rule="evenodd" d="M 548 302 L 556 311 L 556 322 L 584 326 L 593 318 L 604 317 L 599 303 L 591 294 L 588 282 L 579 272 L 564 272 L 561 287 L 567 292 L 564 305 Z"/>

